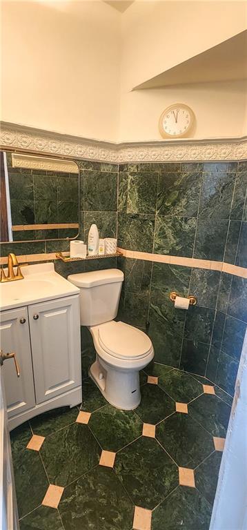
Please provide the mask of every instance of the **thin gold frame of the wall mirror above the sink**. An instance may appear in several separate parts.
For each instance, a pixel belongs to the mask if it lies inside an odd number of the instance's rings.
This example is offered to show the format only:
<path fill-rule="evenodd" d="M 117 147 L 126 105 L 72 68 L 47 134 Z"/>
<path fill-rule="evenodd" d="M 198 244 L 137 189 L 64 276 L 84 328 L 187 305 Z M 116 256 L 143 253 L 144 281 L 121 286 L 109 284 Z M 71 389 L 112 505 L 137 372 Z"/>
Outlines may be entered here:
<path fill-rule="evenodd" d="M 1 148 L 0 149 L 0 152 L 3 153 L 10 153 L 10 154 L 15 154 L 15 155 L 21 155 L 21 157 L 33 157 L 33 158 L 43 158 L 43 159 L 52 159 L 52 160 L 59 160 L 59 161 L 68 161 L 68 162 L 73 162 L 73 164 L 76 164 L 77 168 L 78 168 L 78 173 L 77 174 L 77 178 L 78 178 L 78 209 L 77 209 L 77 213 L 78 213 L 78 232 L 77 232 L 77 235 L 75 235 L 75 237 L 52 237 L 50 239 L 19 239 L 18 241 L 15 241 L 14 239 L 12 241 L 0 241 L 0 245 L 6 245 L 6 244 L 18 244 L 18 243 L 38 243 L 38 242 L 43 242 L 43 241 L 72 241 L 73 239 L 77 239 L 77 237 L 79 236 L 79 233 L 80 233 L 80 214 L 81 214 L 81 178 L 80 178 L 80 168 L 79 168 L 79 164 L 77 162 L 77 160 L 74 160 L 74 159 L 70 159 L 70 158 L 66 158 L 66 157 L 56 157 L 56 156 L 53 156 L 53 155 L 40 155 L 40 154 L 37 154 L 37 153 L 26 153 L 26 152 L 21 152 L 19 150 L 16 150 L 16 149 L 10 149 L 10 148 Z M 17 166 L 18 168 L 18 166 Z M 29 169 L 29 168 L 28 168 Z"/>

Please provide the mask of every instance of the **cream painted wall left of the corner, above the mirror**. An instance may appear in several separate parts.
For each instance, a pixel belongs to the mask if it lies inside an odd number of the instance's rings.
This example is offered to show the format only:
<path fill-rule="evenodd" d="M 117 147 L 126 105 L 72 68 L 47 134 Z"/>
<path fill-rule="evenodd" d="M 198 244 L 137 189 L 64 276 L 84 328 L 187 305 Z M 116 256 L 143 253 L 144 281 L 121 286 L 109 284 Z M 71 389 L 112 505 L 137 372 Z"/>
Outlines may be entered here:
<path fill-rule="evenodd" d="M 1 119 L 112 140 L 121 14 L 101 1 L 1 3 Z"/>

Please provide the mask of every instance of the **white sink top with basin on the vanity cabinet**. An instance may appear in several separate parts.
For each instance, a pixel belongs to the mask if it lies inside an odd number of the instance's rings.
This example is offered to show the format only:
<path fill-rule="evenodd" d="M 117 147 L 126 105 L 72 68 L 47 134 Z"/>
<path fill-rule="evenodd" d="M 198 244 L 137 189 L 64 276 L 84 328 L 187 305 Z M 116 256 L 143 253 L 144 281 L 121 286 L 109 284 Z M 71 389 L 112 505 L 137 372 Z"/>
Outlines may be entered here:
<path fill-rule="evenodd" d="M 53 263 L 29 265 L 22 273 L 23 279 L 0 284 L 1 309 L 79 293 L 78 288 L 55 272 Z"/>

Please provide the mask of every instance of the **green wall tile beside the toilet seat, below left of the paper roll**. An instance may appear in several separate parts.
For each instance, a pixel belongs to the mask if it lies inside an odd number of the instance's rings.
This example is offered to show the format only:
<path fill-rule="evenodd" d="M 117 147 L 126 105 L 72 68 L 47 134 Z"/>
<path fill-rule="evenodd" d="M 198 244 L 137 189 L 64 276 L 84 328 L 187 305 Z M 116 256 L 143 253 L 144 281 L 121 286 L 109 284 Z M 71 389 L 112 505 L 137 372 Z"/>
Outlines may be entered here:
<path fill-rule="evenodd" d="M 184 332 L 185 311 L 177 310 L 170 300 L 152 301 L 149 313 L 149 335 L 155 349 L 155 361 L 179 366 Z"/>

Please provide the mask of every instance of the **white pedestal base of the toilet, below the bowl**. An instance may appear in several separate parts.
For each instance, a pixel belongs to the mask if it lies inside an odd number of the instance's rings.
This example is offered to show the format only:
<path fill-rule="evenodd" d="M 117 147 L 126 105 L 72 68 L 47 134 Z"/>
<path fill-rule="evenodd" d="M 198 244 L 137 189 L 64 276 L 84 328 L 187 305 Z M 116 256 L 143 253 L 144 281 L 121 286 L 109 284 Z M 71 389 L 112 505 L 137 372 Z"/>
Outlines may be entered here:
<path fill-rule="evenodd" d="M 131 411 L 140 404 L 139 371 L 113 369 L 103 360 L 99 361 L 97 355 L 96 361 L 90 366 L 88 375 L 97 384 L 108 403 L 117 409 Z"/>

